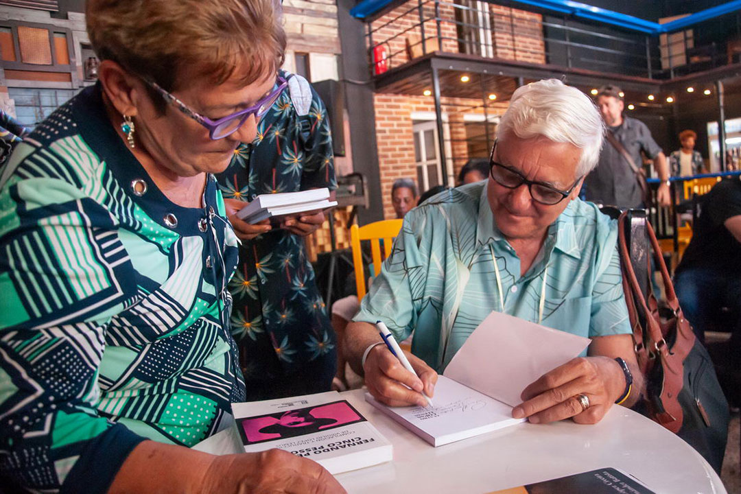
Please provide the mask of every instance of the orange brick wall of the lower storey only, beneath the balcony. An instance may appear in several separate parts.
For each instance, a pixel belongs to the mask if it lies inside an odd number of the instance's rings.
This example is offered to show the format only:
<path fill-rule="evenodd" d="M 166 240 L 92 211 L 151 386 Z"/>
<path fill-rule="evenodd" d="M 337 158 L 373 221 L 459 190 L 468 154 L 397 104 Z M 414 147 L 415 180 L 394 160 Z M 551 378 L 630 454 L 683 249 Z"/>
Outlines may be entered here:
<path fill-rule="evenodd" d="M 444 105 L 456 105 L 456 110 L 463 107 L 476 107 L 467 113 L 483 113 L 480 100 L 443 98 Z M 381 176 L 383 212 L 385 218 L 394 218 L 391 207 L 391 185 L 396 178 L 409 177 L 416 181 L 414 164 L 413 122 L 414 112 L 434 112 L 435 106 L 431 96 L 405 96 L 395 94 L 376 94 L 373 98 L 376 109 L 376 141 L 378 142 L 378 159 Z M 501 115 L 507 103 L 492 103 L 487 106 L 488 115 Z M 451 152 L 448 163 L 453 162 L 453 173 L 457 175 L 468 159 L 465 143 L 465 127 L 462 111 L 449 111 L 448 128 L 451 137 Z M 420 191 L 420 193 L 423 191 Z"/>

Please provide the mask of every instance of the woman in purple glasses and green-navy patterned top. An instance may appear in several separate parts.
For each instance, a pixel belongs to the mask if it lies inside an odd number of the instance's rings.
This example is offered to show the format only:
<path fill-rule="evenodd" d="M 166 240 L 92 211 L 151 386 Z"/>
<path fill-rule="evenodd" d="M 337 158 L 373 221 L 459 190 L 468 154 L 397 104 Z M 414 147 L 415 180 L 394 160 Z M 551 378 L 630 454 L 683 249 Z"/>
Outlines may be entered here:
<path fill-rule="evenodd" d="M 101 59 L 0 177 L 0 490 L 342 492 L 189 447 L 245 400 L 214 173 L 286 82 L 270 0 L 88 0 Z"/>

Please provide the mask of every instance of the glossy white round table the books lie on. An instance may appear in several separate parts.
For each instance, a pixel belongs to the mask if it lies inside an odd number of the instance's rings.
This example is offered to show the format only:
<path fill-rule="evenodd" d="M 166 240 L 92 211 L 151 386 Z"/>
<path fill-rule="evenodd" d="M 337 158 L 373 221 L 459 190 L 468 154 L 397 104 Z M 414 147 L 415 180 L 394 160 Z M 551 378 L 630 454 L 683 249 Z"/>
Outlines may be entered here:
<path fill-rule="evenodd" d="M 595 425 L 519 424 L 432 447 L 365 402 L 341 393 L 393 444 L 393 462 L 337 475 L 348 493 L 488 493 L 614 467 L 658 494 L 725 494 L 699 453 L 648 418 L 612 407 Z"/>

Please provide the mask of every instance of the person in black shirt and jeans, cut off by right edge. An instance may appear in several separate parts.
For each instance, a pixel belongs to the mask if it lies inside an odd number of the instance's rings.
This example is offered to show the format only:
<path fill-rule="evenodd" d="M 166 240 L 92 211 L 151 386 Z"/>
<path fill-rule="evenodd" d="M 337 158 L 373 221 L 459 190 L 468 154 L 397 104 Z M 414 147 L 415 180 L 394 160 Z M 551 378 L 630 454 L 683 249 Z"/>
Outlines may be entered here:
<path fill-rule="evenodd" d="M 692 240 L 674 273 L 674 290 L 697 338 L 731 310 L 733 354 L 741 360 L 741 181 L 729 178 L 700 199 Z M 714 324 L 715 323 L 715 324 Z M 727 323 L 726 323 L 727 324 Z"/>

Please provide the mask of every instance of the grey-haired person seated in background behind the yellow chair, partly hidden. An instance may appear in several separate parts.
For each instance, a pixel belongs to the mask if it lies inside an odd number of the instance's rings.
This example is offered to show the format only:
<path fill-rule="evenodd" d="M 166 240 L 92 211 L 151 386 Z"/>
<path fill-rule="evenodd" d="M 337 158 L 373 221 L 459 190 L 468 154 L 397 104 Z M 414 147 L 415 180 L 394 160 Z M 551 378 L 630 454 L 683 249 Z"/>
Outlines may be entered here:
<path fill-rule="evenodd" d="M 393 211 L 396 213 L 396 218 L 404 218 L 405 214 L 408 213 L 413 207 L 419 204 L 419 196 L 417 193 L 417 187 L 411 178 L 397 178 L 396 181 L 391 185 L 391 204 L 393 205 Z M 355 286 L 355 273 L 352 273 L 352 280 L 348 280 L 348 284 Z M 371 277 L 368 278 L 366 287 L 369 287 L 373 279 L 373 270 L 371 269 Z M 337 335 L 338 351 L 337 351 L 337 375 L 333 381 L 333 388 L 337 390 L 345 390 L 348 387 L 348 381 L 345 378 L 345 364 L 347 364 L 347 358 L 343 350 L 345 343 L 345 327 L 348 326 L 350 319 L 355 316 L 360 308 L 360 301 L 357 295 L 348 295 L 346 297 L 339 298 L 332 304 L 332 327 Z"/>

